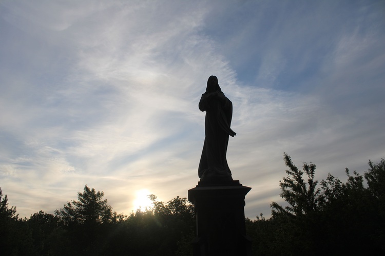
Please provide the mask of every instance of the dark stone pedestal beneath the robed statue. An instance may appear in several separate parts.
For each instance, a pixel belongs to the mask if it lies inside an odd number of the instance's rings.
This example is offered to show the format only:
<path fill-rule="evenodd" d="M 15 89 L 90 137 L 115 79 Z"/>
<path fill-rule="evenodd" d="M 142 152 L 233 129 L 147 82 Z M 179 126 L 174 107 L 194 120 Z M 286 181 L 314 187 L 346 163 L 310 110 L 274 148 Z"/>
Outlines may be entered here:
<path fill-rule="evenodd" d="M 251 255 L 252 240 L 246 236 L 244 214 L 244 200 L 250 190 L 239 181 L 198 182 L 188 190 L 197 219 L 194 256 Z"/>

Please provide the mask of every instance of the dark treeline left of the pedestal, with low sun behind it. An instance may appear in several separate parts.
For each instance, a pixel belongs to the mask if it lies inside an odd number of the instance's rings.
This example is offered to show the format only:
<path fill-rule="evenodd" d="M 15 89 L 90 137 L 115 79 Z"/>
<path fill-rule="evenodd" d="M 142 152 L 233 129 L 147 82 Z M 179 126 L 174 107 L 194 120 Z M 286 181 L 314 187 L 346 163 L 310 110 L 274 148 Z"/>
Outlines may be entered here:
<path fill-rule="evenodd" d="M 78 201 L 55 215 L 39 211 L 21 219 L 0 189 L 1 255 L 189 255 L 195 219 L 186 198 L 163 203 L 150 195 L 151 209 L 126 216 L 103 196 L 86 185 Z"/>

